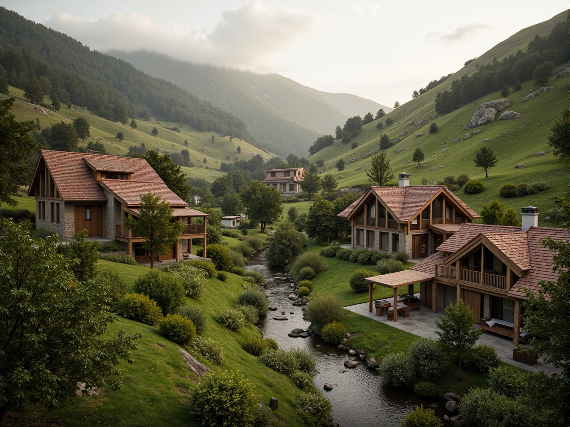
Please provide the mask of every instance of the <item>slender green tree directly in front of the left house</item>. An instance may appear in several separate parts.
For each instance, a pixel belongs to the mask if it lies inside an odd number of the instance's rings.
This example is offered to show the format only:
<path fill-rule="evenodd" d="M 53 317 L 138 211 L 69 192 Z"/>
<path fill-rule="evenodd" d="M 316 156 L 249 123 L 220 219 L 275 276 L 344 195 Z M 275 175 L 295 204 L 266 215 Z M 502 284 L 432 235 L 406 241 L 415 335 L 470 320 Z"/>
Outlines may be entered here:
<path fill-rule="evenodd" d="M 138 219 L 129 216 L 123 219 L 123 225 L 146 239 L 141 246 L 149 252 L 150 268 L 153 268 L 154 254 L 168 253 L 170 246 L 177 243 L 184 225 L 180 221 L 170 222 L 173 210 L 168 202 L 161 200 L 160 195 L 149 191 L 140 198 Z"/>

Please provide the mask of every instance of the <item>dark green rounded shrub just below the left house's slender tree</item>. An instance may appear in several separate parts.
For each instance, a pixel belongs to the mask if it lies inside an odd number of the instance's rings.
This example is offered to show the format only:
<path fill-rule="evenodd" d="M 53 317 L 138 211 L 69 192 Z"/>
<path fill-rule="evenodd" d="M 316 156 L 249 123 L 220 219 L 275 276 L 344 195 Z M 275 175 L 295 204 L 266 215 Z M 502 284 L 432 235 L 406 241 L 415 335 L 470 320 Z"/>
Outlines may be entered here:
<path fill-rule="evenodd" d="M 163 315 L 176 313 L 184 301 L 184 288 L 180 279 L 160 270 L 151 270 L 137 277 L 134 289 L 156 301 Z"/>

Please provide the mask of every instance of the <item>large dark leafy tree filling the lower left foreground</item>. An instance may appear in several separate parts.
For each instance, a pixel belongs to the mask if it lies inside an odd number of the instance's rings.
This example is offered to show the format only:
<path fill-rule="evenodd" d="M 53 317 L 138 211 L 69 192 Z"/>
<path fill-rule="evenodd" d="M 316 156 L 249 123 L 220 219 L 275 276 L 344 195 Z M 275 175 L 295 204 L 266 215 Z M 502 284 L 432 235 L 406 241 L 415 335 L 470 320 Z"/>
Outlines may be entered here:
<path fill-rule="evenodd" d="M 32 239 L 29 225 L 4 221 L 0 239 L 0 421 L 26 402 L 61 408 L 85 389 L 120 387 L 120 360 L 132 363 L 134 340 L 120 331 L 108 289 L 80 282 L 58 255 L 58 236 Z"/>

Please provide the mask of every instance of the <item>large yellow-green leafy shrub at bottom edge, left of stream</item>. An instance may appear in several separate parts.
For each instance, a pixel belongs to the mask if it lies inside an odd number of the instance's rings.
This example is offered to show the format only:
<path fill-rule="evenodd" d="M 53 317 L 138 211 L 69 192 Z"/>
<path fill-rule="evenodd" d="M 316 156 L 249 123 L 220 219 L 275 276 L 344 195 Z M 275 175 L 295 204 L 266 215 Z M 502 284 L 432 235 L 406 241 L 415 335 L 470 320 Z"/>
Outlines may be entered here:
<path fill-rule="evenodd" d="M 257 405 L 253 382 L 239 370 L 206 374 L 192 390 L 190 400 L 190 414 L 201 420 L 203 426 L 250 425 Z"/>

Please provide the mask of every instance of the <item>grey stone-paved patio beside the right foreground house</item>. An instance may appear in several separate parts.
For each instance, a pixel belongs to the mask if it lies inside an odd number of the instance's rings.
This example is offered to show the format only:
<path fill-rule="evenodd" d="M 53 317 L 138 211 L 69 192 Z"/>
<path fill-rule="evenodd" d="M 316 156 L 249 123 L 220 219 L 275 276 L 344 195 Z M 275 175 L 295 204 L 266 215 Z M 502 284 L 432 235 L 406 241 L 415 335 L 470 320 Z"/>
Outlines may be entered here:
<path fill-rule="evenodd" d="M 437 339 L 437 335 L 435 335 L 435 321 L 439 320 L 439 316 L 445 314 L 443 312 L 432 313 L 429 307 L 422 305 L 420 310 L 410 311 L 409 317 L 398 316 L 398 321 L 394 322 L 392 320 L 388 320 L 386 315 L 376 316 L 375 310 L 370 313 L 368 311 L 368 303 L 349 305 L 345 308 L 354 313 L 369 317 L 370 319 L 374 319 L 391 327 L 402 329 L 402 331 L 432 339 Z M 478 328 L 478 325 L 474 325 L 474 327 Z M 523 362 L 512 360 L 512 349 L 515 348 L 515 346 L 512 344 L 512 340 L 507 337 L 503 337 L 496 333 L 483 331 L 483 334 L 481 337 L 479 337 L 479 340 L 477 342 L 478 344 L 491 345 L 496 349 L 497 354 L 504 362 L 519 366 L 519 368 L 532 370 L 534 372 L 544 370 L 544 372 L 548 375 L 551 375 L 553 373 L 561 373 L 561 369 L 556 369 L 552 365 L 545 365 L 542 361 L 542 358 L 539 358 L 536 364 L 532 366 L 524 364 Z"/>

